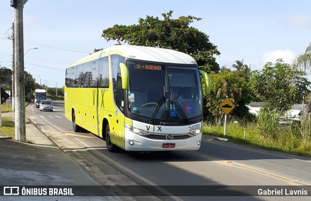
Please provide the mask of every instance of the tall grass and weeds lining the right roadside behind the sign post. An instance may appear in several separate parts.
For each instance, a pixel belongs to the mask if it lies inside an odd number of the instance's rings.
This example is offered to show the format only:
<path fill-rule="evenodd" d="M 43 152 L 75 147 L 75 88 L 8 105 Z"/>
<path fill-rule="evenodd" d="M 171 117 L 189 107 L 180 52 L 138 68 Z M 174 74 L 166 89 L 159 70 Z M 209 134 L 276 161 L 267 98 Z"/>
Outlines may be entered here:
<path fill-rule="evenodd" d="M 260 149 L 311 156 L 311 121 L 308 118 L 301 125 L 299 122 L 286 125 L 274 123 L 266 117 L 257 122 L 232 119 L 227 122 L 225 136 L 224 125 L 204 123 L 203 134 L 224 137 L 233 143 Z"/>

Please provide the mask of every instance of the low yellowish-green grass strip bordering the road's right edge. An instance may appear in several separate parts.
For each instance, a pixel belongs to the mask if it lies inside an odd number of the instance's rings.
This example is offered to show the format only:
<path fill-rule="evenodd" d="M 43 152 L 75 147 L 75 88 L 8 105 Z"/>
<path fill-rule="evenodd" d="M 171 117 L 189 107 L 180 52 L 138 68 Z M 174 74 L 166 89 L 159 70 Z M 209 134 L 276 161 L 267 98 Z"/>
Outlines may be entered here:
<path fill-rule="evenodd" d="M 245 138 L 244 138 L 245 131 Z M 259 132 L 257 124 L 242 123 L 235 125 L 228 122 L 226 125 L 226 135 L 224 136 L 224 126 L 212 125 L 203 127 L 203 134 L 217 137 L 225 137 L 237 144 L 244 144 L 270 151 L 280 151 L 295 155 L 311 156 L 310 138 L 302 137 L 303 128 L 297 124 L 287 126 L 277 125 L 277 133 L 273 131 L 275 138 L 271 139 Z"/>

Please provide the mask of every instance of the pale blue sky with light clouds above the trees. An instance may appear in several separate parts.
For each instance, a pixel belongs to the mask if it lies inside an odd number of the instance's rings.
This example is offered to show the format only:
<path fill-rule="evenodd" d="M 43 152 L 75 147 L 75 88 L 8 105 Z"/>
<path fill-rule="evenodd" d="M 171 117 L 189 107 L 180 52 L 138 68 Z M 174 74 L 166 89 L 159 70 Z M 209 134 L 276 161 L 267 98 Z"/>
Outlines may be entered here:
<path fill-rule="evenodd" d="M 194 16 L 191 27 L 209 36 L 231 66 L 236 60 L 260 70 L 282 58 L 291 63 L 311 42 L 310 0 L 28 0 L 23 9 L 25 71 L 38 84 L 62 87 L 66 67 L 116 41 L 101 34 L 115 24 L 138 24 L 138 18 L 173 10 L 172 18 Z M 0 0 L 0 65 L 11 68 L 14 8 Z M 37 48 L 37 49 L 33 49 Z M 28 51 L 29 50 L 29 51 Z M 309 76 L 310 77 L 310 76 Z"/>

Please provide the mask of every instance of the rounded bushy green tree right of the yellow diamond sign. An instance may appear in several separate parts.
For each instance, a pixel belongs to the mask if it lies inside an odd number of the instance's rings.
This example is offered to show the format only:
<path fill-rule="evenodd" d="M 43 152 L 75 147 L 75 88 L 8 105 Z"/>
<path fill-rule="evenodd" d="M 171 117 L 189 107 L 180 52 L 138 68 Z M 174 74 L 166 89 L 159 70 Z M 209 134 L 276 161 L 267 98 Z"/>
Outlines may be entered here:
<path fill-rule="evenodd" d="M 305 72 L 293 69 L 282 59 L 277 59 L 275 64 L 266 63 L 262 70 L 254 71 L 250 79 L 253 93 L 266 103 L 269 112 L 274 109 L 279 116 L 303 100 L 309 84 Z"/>

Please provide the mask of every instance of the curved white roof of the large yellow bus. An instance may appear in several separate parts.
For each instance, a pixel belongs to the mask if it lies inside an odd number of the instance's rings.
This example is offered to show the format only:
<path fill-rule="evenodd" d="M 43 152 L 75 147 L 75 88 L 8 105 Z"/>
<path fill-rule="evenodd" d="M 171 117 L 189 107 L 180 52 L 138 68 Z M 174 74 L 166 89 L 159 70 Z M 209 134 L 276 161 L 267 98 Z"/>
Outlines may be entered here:
<path fill-rule="evenodd" d="M 102 54 L 103 53 L 103 54 Z M 152 62 L 164 62 L 173 64 L 196 64 L 196 61 L 188 54 L 163 48 L 134 46 L 134 45 L 115 45 L 104 50 L 90 54 L 73 64 L 69 67 L 85 63 L 98 59 L 100 55 L 102 57 L 109 54 L 119 54 L 126 58 L 135 58 L 138 60 L 152 61 Z"/>

